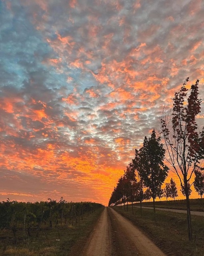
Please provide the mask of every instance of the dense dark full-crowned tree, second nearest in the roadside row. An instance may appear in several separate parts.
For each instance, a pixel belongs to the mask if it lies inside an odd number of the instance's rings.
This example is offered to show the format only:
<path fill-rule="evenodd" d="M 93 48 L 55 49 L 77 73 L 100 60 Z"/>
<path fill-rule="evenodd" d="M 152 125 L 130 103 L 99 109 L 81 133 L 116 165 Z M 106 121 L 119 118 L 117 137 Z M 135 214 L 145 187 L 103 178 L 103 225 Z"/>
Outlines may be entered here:
<path fill-rule="evenodd" d="M 164 155 L 163 144 L 160 143 L 160 137 L 156 138 L 156 132 L 153 129 L 151 137 L 147 139 L 145 136 L 143 147 L 139 150 L 140 168 L 138 171 L 144 181 L 144 185 L 150 188 L 152 192 L 155 217 L 155 199 L 158 189 L 162 186 L 169 170 L 163 162 Z"/>

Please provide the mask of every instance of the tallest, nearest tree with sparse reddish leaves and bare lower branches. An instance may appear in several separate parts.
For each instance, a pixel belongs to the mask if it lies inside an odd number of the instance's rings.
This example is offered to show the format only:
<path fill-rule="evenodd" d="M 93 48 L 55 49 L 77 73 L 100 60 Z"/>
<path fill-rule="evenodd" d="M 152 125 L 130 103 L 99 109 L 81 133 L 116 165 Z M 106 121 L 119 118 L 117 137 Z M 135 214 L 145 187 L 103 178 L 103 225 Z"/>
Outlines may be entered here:
<path fill-rule="evenodd" d="M 172 113 L 170 115 L 163 113 L 161 130 L 169 155 L 167 160 L 172 165 L 181 186 L 185 190 L 188 238 L 192 240 L 188 182 L 199 164 L 199 160 L 204 157 L 204 127 L 199 132 L 196 123 L 196 116 L 201 109 L 201 99 L 198 98 L 199 80 L 192 84 L 190 94 L 186 88 L 188 80 L 189 78 L 186 78 L 180 91 L 174 95 Z"/>

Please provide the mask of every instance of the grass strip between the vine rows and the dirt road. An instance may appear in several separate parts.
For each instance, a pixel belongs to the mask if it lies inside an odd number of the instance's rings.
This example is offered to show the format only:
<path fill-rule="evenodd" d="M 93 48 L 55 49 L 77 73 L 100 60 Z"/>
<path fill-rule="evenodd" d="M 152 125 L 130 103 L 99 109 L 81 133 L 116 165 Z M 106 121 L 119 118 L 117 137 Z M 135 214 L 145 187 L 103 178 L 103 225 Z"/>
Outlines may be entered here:
<path fill-rule="evenodd" d="M 38 236 L 36 231 L 31 231 L 31 237 L 18 231 L 16 244 L 11 230 L 0 230 L 0 256 L 80 256 L 103 209 L 84 215 L 83 220 L 74 225 L 42 227 Z M 3 250 L 6 240 L 6 250 Z"/>

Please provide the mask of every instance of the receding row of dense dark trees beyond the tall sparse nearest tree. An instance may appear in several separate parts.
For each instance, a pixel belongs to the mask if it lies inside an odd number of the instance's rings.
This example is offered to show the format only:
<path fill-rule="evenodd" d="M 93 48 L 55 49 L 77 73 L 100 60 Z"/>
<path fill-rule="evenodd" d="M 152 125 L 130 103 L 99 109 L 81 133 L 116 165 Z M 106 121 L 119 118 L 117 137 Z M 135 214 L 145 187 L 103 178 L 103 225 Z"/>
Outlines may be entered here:
<path fill-rule="evenodd" d="M 163 162 L 165 150 L 160 143 L 160 137 L 156 138 L 155 130 L 152 131 L 150 138 L 144 138 L 143 147 L 135 152 L 135 158 L 127 166 L 124 175 L 120 177 L 114 188 L 109 205 L 121 204 L 125 201 L 142 203 L 151 195 L 155 212 L 154 201 L 161 195 L 161 186 L 169 170 Z M 147 188 L 145 192 L 144 188 Z"/>

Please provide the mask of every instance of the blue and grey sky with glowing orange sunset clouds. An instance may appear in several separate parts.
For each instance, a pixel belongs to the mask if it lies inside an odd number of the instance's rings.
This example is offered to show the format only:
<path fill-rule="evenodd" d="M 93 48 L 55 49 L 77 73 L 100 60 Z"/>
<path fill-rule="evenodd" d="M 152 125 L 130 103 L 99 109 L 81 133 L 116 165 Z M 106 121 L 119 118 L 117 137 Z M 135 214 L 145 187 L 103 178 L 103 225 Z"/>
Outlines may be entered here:
<path fill-rule="evenodd" d="M 203 13 L 202 0 L 0 0 L 0 201 L 107 205 L 186 77 L 204 98 Z"/>

